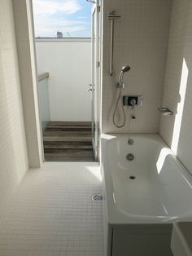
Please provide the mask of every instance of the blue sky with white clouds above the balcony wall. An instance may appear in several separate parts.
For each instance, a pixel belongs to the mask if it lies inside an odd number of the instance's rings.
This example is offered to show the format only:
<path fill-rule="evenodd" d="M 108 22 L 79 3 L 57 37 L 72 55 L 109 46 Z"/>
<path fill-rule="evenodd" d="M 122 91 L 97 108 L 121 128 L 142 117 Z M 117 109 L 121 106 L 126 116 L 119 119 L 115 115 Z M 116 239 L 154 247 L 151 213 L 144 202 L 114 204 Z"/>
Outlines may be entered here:
<path fill-rule="evenodd" d="M 86 0 L 33 0 L 35 37 L 90 38 L 91 7 Z"/>

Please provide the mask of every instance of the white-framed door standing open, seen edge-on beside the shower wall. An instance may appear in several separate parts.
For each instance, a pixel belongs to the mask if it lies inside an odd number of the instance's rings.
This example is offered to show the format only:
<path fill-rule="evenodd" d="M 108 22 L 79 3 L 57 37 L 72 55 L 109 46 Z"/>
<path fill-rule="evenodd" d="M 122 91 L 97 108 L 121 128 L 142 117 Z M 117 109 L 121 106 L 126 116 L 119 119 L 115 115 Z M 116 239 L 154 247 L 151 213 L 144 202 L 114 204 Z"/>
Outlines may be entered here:
<path fill-rule="evenodd" d="M 99 1 L 92 8 L 92 143 L 95 160 L 98 160 L 98 87 L 100 83 L 100 7 Z"/>

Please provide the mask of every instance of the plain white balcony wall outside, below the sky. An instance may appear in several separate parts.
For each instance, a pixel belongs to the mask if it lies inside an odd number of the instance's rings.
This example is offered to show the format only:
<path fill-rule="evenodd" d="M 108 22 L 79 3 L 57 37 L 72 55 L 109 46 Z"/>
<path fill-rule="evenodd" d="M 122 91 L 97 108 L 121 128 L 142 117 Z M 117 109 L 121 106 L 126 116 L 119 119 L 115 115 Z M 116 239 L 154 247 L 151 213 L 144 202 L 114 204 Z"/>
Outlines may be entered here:
<path fill-rule="evenodd" d="M 50 120 L 90 121 L 90 39 L 37 39 L 36 49 L 38 73 L 50 73 Z"/>

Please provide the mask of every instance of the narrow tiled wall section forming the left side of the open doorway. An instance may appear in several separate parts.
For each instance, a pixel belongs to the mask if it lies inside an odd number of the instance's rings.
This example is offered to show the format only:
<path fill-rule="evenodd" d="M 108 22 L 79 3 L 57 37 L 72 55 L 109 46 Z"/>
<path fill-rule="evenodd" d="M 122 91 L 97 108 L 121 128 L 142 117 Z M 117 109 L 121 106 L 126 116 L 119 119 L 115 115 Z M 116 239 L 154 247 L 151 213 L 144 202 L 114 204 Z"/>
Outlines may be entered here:
<path fill-rule="evenodd" d="M 30 0 L 14 0 L 15 36 L 20 65 L 24 125 L 30 167 L 41 166 L 41 131 L 37 99 L 33 19 Z"/>

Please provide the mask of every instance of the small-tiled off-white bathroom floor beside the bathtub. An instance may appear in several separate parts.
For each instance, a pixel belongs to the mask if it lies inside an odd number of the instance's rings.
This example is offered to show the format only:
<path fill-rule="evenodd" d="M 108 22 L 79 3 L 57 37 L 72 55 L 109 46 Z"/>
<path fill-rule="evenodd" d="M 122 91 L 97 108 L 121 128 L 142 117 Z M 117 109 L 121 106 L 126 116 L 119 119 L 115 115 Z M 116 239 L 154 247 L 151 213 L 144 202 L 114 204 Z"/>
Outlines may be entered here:
<path fill-rule="evenodd" d="M 30 170 L 0 220 L 1 256 L 103 256 L 98 163 Z"/>

